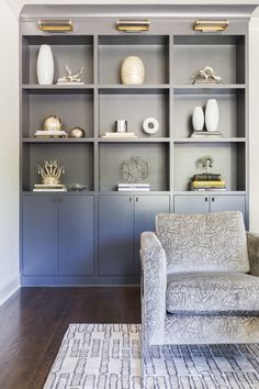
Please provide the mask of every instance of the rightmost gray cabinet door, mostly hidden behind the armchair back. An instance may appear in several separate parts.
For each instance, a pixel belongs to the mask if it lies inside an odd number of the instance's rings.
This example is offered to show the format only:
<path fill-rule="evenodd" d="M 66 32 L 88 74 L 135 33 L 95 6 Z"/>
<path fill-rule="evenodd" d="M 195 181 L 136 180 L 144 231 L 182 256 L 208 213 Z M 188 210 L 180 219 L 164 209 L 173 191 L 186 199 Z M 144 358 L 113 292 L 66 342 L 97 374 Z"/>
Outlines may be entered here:
<path fill-rule="evenodd" d="M 241 211 L 245 216 L 246 196 L 222 194 L 211 196 L 211 212 L 218 211 Z"/>

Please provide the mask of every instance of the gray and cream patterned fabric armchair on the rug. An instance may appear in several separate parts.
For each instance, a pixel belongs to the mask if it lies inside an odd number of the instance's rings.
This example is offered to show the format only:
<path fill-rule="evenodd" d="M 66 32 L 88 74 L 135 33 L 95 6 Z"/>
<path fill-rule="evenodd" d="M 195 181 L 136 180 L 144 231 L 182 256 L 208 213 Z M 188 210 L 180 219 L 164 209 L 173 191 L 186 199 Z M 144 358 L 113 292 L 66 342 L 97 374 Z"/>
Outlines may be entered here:
<path fill-rule="evenodd" d="M 140 258 L 143 347 L 259 343 L 259 235 L 241 212 L 159 214 Z"/>

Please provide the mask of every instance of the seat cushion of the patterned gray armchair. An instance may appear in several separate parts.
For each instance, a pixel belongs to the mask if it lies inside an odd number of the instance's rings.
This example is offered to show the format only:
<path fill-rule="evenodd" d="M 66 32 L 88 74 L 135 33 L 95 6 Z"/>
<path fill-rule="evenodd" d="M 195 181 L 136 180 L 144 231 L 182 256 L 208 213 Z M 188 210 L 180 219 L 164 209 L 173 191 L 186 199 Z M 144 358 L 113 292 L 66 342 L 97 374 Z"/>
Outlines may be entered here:
<path fill-rule="evenodd" d="M 241 273 L 168 275 L 167 311 L 181 314 L 259 314 L 259 277 Z"/>

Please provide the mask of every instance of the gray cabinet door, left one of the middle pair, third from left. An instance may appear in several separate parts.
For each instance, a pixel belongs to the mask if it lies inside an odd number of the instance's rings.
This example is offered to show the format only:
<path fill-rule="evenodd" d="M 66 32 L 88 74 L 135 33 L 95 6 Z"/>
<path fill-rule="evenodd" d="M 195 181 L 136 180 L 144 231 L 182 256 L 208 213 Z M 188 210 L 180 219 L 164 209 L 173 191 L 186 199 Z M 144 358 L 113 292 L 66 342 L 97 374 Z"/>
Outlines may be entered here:
<path fill-rule="evenodd" d="M 134 197 L 99 197 L 99 275 L 134 275 Z"/>

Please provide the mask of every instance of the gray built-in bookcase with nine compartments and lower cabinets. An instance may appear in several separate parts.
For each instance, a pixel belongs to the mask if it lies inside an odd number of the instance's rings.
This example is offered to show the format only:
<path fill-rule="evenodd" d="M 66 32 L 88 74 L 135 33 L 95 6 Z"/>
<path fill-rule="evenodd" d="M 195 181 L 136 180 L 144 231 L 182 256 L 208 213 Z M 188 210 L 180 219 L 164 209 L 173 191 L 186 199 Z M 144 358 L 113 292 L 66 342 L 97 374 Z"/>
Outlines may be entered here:
<path fill-rule="evenodd" d="M 155 229 L 159 212 L 241 210 L 248 226 L 248 24 L 255 7 L 26 5 L 21 14 L 21 280 L 22 285 L 130 285 L 139 282 L 139 235 Z M 222 16 L 225 12 L 224 18 Z M 219 16 L 218 16 L 219 14 Z M 219 33 L 193 31 L 195 19 L 227 19 Z M 213 15 L 213 16 L 212 16 Z M 74 31 L 49 33 L 41 19 L 70 19 Z M 116 30 L 117 19 L 149 19 L 148 32 Z M 52 46 L 54 82 L 65 65 L 80 69 L 85 85 L 40 86 L 41 44 Z M 145 82 L 121 84 L 128 55 L 145 65 Z M 192 85 L 204 66 L 222 85 Z M 190 138 L 195 105 L 216 98 L 222 138 Z M 82 138 L 35 138 L 43 119 L 58 115 Z M 143 132 L 144 119 L 159 122 Z M 102 138 L 126 119 L 132 140 Z M 214 159 L 226 191 L 192 192 L 198 160 Z M 131 156 L 148 163 L 149 192 L 119 192 L 120 166 Z M 58 158 L 63 184 L 86 191 L 33 192 L 37 166 Z"/>

